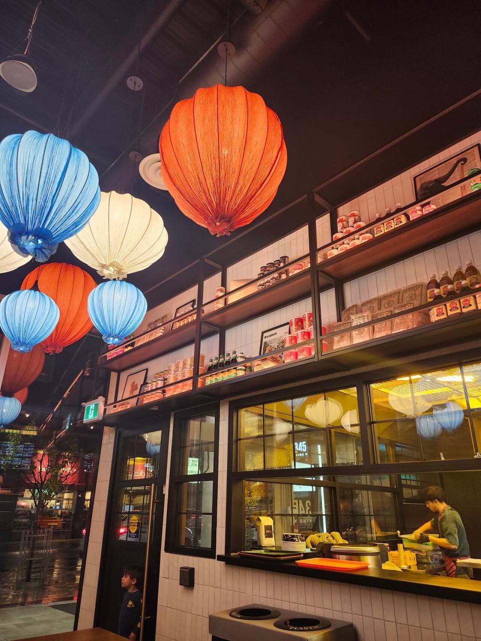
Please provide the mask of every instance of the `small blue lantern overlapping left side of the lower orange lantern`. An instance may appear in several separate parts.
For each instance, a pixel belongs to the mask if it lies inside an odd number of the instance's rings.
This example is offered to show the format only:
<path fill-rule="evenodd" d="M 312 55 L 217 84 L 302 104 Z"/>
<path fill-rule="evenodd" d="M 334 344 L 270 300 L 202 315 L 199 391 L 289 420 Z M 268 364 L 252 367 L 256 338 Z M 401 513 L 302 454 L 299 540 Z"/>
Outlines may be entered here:
<path fill-rule="evenodd" d="M 17 352 L 30 352 L 51 335 L 59 317 L 55 302 L 37 289 L 12 292 L 0 302 L 0 328 Z"/>

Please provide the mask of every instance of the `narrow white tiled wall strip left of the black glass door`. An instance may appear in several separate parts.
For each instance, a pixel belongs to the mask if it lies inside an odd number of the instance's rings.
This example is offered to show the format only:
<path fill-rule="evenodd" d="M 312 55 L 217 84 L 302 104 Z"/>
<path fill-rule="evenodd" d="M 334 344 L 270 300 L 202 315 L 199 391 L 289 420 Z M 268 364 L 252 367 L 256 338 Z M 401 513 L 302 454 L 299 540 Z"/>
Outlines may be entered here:
<path fill-rule="evenodd" d="M 105 527 L 110 469 L 114 454 L 114 428 L 103 428 L 99 470 L 95 489 L 92 521 L 90 522 L 89 547 L 83 574 L 83 587 L 78 617 L 78 629 L 89 629 L 94 625 L 94 612 L 99 582 L 100 557 Z"/>

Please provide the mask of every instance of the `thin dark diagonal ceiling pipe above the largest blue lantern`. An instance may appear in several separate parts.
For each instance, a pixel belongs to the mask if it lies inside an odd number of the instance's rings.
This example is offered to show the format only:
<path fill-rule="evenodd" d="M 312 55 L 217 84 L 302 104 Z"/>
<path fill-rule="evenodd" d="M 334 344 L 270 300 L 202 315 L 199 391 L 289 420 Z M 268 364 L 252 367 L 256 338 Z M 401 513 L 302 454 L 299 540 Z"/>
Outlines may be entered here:
<path fill-rule="evenodd" d="M 149 44 L 158 36 L 160 31 L 164 29 L 167 24 L 173 19 L 174 15 L 180 10 L 185 0 L 169 0 L 164 9 L 158 14 L 156 20 L 151 24 L 146 35 L 140 40 L 140 53 L 149 46 Z M 92 102 L 83 110 L 78 121 L 72 126 L 70 130 L 70 137 L 78 135 L 83 126 L 87 123 L 89 118 L 97 111 L 99 106 L 103 103 L 106 97 L 121 83 L 125 81 L 128 72 L 135 66 L 137 57 L 139 56 L 139 45 L 135 45 L 122 63 L 115 69 L 114 73 L 110 76 L 108 81 L 102 85 L 102 88 L 97 93 Z"/>

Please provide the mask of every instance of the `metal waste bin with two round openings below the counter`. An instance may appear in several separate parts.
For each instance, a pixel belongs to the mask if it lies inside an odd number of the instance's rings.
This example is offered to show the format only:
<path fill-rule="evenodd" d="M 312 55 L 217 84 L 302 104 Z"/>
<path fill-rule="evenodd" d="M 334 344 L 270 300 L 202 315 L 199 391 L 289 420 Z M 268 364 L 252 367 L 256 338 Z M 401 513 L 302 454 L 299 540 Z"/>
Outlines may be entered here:
<path fill-rule="evenodd" d="M 251 603 L 209 615 L 212 641 L 355 641 L 352 623 Z"/>

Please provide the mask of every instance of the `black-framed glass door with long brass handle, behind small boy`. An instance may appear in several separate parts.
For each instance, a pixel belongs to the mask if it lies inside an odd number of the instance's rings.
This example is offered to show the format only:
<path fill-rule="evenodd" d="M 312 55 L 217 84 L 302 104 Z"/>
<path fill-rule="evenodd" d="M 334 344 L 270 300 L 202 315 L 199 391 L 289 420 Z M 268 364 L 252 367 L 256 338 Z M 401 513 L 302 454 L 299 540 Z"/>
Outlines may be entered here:
<path fill-rule="evenodd" d="M 144 641 L 155 639 L 168 439 L 168 418 L 162 425 L 144 428 L 144 431 L 130 429 L 119 432 L 103 546 L 96 624 L 117 632 L 124 594 L 121 588 L 123 569 L 127 565 L 140 565 L 145 571 L 147 567 Z M 154 503 L 146 566 L 152 495 Z"/>

